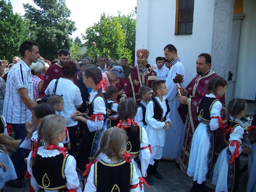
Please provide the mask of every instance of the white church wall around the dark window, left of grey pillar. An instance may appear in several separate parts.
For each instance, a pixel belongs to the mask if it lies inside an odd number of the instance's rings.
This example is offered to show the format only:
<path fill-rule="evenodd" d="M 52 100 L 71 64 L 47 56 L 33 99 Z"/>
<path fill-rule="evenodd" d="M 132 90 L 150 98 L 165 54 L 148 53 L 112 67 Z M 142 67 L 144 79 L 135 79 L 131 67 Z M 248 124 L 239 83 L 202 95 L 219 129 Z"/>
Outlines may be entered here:
<path fill-rule="evenodd" d="M 185 67 L 187 85 L 196 75 L 197 56 L 211 53 L 214 10 L 213 0 L 195 1 L 192 35 L 174 35 L 175 0 L 137 0 L 135 51 L 145 45 L 152 65 L 156 57 L 164 57 L 163 48 L 173 44 Z"/>

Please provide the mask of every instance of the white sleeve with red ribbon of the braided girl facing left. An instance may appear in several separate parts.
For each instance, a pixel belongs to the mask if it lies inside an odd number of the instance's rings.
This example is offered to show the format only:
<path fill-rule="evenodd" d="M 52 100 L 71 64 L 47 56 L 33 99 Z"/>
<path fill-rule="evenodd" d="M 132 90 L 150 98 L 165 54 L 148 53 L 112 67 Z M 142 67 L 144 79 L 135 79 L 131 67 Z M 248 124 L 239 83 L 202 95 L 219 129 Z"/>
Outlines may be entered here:
<path fill-rule="evenodd" d="M 106 104 L 102 97 L 97 97 L 94 99 L 94 108 L 93 114 L 104 114 L 106 115 Z M 97 121 L 98 118 L 96 116 L 94 121 L 87 120 L 87 126 L 90 132 L 97 131 L 97 127 L 99 130 L 103 128 L 104 125 L 104 118 L 102 115 L 102 120 Z"/>

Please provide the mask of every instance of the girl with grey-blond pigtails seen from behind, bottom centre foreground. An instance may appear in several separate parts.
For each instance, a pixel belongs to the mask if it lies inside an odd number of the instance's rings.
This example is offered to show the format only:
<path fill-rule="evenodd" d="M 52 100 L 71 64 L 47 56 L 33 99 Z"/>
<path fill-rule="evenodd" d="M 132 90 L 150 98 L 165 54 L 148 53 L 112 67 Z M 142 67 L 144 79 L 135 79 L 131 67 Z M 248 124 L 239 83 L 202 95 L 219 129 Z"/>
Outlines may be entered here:
<path fill-rule="evenodd" d="M 90 159 L 89 167 L 87 166 L 90 173 L 85 191 L 141 191 L 135 165 L 124 160 L 126 143 L 127 135 L 121 129 L 107 129 L 103 133 L 99 150 Z M 104 155 L 96 162 L 100 153 Z"/>

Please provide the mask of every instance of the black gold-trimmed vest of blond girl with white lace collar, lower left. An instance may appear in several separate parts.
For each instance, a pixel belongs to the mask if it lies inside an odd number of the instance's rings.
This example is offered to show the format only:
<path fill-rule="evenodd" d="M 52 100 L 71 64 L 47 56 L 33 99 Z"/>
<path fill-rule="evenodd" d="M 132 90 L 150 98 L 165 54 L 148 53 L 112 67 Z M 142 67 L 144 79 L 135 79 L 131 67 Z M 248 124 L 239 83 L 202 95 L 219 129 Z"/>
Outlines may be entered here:
<path fill-rule="evenodd" d="M 63 157 L 62 153 L 47 158 L 36 155 L 32 173 L 40 188 L 52 191 L 66 187 L 67 180 L 64 175 L 64 167 L 67 158 L 68 154 Z"/>

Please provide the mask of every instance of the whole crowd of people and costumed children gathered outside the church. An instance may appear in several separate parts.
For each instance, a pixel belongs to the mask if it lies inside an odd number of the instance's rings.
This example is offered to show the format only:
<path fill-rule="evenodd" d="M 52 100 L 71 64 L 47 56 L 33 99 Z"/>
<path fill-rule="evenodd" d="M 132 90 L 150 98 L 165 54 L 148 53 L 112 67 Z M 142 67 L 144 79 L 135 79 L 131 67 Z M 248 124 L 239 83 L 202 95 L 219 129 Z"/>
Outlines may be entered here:
<path fill-rule="evenodd" d="M 65 49 L 50 62 L 39 49 L 24 41 L 21 58 L 0 60 L 0 191 L 24 187 L 23 178 L 35 192 L 144 191 L 152 176 L 163 179 L 162 158 L 193 177 L 192 192 L 214 191 L 205 185 L 211 172 L 215 191 L 237 191 L 241 153 L 247 191 L 256 190 L 256 117 L 244 131 L 246 101 L 226 109 L 227 81 L 210 54 L 198 56 L 185 88 L 171 44 L 154 65 L 147 49 L 137 50 L 135 67 L 126 57 L 78 62 Z"/>

